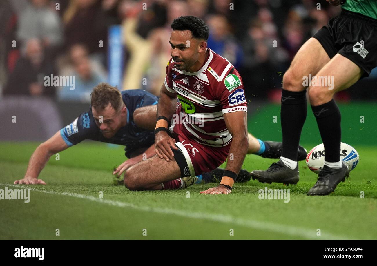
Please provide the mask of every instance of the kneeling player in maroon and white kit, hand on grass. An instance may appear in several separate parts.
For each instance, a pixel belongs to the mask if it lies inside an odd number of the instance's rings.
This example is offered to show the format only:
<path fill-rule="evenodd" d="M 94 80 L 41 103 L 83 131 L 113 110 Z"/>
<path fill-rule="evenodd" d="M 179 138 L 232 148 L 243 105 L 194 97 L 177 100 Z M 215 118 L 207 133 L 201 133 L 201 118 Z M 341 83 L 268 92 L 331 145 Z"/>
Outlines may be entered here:
<path fill-rule="evenodd" d="M 130 190 L 187 187 L 228 158 L 220 185 L 201 192 L 228 194 L 249 146 L 242 78 L 207 48 L 208 27 L 200 18 L 179 17 L 171 26 L 172 59 L 157 107 L 157 155 L 128 168 L 124 184 Z"/>

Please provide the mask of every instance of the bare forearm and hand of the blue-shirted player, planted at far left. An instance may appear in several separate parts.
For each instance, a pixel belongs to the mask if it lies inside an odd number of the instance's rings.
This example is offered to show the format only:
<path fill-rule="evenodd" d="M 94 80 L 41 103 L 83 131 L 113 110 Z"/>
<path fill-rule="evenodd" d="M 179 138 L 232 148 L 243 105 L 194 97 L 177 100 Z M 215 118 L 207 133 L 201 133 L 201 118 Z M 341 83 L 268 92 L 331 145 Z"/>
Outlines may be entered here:
<path fill-rule="evenodd" d="M 38 146 L 30 158 L 24 179 L 15 180 L 14 183 L 46 185 L 46 182 L 42 179 L 38 179 L 39 174 L 53 154 L 63 151 L 66 148 L 68 148 L 68 145 L 61 137 L 60 131 L 58 131 L 54 136 Z"/>

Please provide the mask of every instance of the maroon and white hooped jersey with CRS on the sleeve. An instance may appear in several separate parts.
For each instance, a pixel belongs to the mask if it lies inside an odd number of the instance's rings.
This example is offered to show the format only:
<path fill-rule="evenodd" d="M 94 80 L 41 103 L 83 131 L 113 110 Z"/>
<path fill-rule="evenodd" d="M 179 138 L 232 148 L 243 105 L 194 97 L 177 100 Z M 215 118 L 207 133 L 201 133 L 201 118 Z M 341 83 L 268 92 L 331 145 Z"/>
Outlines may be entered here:
<path fill-rule="evenodd" d="M 165 87 L 176 93 L 182 105 L 182 130 L 200 144 L 224 147 L 232 136 L 224 113 L 247 112 L 242 78 L 233 65 L 207 48 L 208 57 L 197 72 L 175 68 L 173 58 L 166 67 Z M 173 132 L 173 120 L 170 131 Z"/>

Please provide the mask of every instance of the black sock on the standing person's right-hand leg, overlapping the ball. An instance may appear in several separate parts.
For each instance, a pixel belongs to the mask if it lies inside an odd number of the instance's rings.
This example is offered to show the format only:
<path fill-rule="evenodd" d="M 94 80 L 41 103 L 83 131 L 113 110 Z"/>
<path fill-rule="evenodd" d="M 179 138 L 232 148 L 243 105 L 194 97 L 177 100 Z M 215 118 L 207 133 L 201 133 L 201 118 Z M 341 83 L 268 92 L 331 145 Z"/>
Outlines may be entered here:
<path fill-rule="evenodd" d="M 317 119 L 319 133 L 325 146 L 325 161 L 339 162 L 340 160 L 340 112 L 334 99 L 319 106 L 311 106 Z"/>

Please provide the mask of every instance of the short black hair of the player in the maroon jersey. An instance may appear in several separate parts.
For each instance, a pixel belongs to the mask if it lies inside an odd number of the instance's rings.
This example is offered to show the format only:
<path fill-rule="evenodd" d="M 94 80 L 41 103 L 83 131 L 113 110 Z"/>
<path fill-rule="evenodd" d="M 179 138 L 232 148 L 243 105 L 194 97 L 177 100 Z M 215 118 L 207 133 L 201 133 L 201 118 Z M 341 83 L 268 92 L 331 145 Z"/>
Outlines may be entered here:
<path fill-rule="evenodd" d="M 193 38 L 208 40 L 210 34 L 207 24 L 203 20 L 194 16 L 182 16 L 175 18 L 170 25 L 173 31 L 189 30 Z"/>

